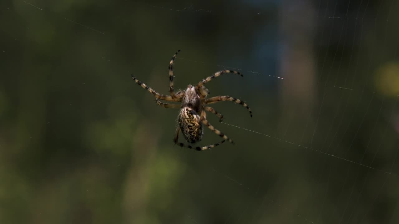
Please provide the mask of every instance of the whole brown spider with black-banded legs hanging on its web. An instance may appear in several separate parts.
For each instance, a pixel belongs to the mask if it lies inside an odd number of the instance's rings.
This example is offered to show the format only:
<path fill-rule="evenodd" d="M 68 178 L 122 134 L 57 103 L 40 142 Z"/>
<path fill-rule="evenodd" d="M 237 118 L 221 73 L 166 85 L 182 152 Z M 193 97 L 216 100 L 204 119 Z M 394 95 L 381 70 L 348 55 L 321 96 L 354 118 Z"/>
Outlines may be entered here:
<path fill-rule="evenodd" d="M 225 73 L 234 73 L 234 74 L 240 75 L 241 77 L 243 77 L 243 75 L 237 71 L 221 70 L 221 71 L 216 72 L 214 75 L 209 76 L 206 79 L 203 79 L 196 86 L 193 86 L 190 84 L 187 86 L 186 90 L 180 90 L 175 93 L 174 85 L 173 85 L 173 62 L 179 52 L 180 52 L 180 50 L 178 50 L 173 55 L 172 60 L 170 60 L 170 63 L 169 63 L 169 92 L 170 92 L 170 95 L 159 94 L 152 88 L 148 87 L 146 84 L 140 82 L 138 79 L 136 79 L 132 75 L 133 81 L 135 81 L 142 88 L 148 90 L 148 92 L 153 94 L 156 98 L 155 99 L 156 103 L 159 106 L 162 106 L 164 108 L 180 108 L 180 113 L 178 115 L 179 125 L 176 128 L 175 137 L 174 137 L 175 144 L 177 144 L 181 147 L 188 147 L 190 149 L 196 149 L 198 151 L 213 148 L 213 147 L 225 142 L 226 140 L 228 140 L 230 143 L 234 144 L 233 140 L 231 140 L 225 134 L 223 134 L 221 131 L 215 129 L 211 124 L 209 124 L 208 120 L 206 119 L 205 111 L 215 114 L 217 117 L 219 117 L 220 122 L 223 119 L 223 115 L 219 114 L 215 109 L 213 109 L 209 106 L 205 106 L 205 105 L 213 104 L 213 103 L 216 103 L 219 101 L 231 101 L 231 102 L 235 102 L 236 104 L 241 104 L 245 108 L 247 108 L 251 117 L 252 117 L 252 111 L 249 108 L 249 106 L 247 104 L 245 104 L 245 102 L 243 102 L 242 100 L 239 100 L 237 98 L 230 97 L 230 96 L 214 96 L 211 98 L 206 98 L 207 94 L 209 94 L 209 91 L 207 90 L 207 88 L 205 88 L 204 84 L 208 83 L 212 79 L 214 79 L 222 74 L 225 74 Z M 180 102 L 180 104 L 163 103 L 163 102 L 161 102 L 161 100 L 166 100 L 166 101 L 171 101 L 171 102 Z M 193 147 L 191 145 L 187 145 L 185 143 L 178 142 L 179 128 L 180 128 L 180 130 L 182 130 L 184 138 L 189 143 L 196 143 L 198 141 L 201 141 L 202 136 L 203 136 L 202 124 L 207 126 L 215 134 L 217 134 L 221 138 L 223 138 L 223 140 L 219 141 L 218 143 L 215 143 L 213 145 L 207 145 L 204 147 Z"/>

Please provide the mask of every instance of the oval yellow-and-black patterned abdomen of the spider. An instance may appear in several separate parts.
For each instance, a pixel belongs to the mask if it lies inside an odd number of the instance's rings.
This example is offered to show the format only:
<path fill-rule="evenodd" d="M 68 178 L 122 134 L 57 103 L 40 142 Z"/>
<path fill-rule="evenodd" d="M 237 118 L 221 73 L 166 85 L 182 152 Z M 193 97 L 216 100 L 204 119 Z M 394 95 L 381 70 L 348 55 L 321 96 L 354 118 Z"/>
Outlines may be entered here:
<path fill-rule="evenodd" d="M 179 114 L 179 126 L 186 141 L 190 143 L 201 141 L 203 135 L 202 123 L 195 110 L 188 107 L 182 108 Z"/>

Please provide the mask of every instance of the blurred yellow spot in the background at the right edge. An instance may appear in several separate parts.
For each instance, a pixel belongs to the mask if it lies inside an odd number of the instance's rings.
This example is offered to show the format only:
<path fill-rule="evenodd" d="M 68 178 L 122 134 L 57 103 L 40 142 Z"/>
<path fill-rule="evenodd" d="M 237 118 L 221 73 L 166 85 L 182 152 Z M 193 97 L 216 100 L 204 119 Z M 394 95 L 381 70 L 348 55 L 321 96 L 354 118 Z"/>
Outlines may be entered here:
<path fill-rule="evenodd" d="M 375 85 L 379 92 L 387 95 L 399 95 L 399 63 L 391 62 L 377 70 Z"/>

